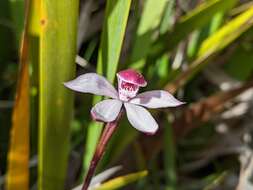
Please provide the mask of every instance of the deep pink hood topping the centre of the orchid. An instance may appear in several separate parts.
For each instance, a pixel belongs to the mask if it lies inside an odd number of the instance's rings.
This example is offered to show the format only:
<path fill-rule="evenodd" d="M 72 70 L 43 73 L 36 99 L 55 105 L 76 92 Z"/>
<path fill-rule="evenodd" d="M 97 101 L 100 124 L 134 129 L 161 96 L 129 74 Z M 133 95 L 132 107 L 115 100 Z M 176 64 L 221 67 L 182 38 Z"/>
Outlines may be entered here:
<path fill-rule="evenodd" d="M 126 69 L 120 71 L 117 73 L 117 77 L 127 83 L 132 83 L 141 87 L 147 85 L 147 81 L 145 80 L 145 78 L 133 69 Z"/>

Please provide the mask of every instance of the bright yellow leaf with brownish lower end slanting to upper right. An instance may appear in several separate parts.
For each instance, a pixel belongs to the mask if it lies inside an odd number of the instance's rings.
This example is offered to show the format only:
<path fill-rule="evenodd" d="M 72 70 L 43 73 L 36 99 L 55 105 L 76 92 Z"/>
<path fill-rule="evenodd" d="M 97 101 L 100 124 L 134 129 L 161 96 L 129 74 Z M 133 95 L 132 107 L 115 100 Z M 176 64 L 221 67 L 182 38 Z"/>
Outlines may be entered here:
<path fill-rule="evenodd" d="M 229 21 L 217 32 L 207 38 L 200 46 L 197 53 L 197 59 L 190 67 L 182 72 L 171 84 L 168 84 L 166 90 L 174 93 L 179 87 L 183 86 L 191 77 L 205 67 L 209 60 L 217 55 L 221 50 L 239 38 L 253 25 L 253 6 L 248 10 Z"/>

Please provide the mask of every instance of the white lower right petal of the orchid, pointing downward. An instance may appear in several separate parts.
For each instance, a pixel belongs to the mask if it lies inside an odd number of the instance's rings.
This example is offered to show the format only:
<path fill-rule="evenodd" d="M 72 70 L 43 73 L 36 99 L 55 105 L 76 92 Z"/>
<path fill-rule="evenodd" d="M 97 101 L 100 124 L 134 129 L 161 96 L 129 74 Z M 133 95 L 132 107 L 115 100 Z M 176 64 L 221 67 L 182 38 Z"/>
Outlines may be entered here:
<path fill-rule="evenodd" d="M 148 134 L 154 134 L 157 131 L 158 124 L 145 108 L 130 103 L 124 103 L 124 105 L 127 118 L 134 128 Z"/>

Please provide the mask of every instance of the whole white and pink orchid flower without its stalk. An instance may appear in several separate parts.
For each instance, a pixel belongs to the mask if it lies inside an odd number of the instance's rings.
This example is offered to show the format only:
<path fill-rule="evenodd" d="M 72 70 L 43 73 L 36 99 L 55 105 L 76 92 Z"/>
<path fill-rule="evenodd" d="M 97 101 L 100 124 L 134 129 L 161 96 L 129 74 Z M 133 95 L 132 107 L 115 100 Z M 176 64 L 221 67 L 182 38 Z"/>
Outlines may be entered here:
<path fill-rule="evenodd" d="M 133 69 L 120 71 L 117 73 L 117 78 L 118 91 L 103 76 L 96 73 L 81 75 L 64 85 L 74 91 L 111 98 L 97 103 L 91 109 L 91 116 L 94 120 L 112 122 L 124 106 L 131 125 L 148 134 L 154 134 L 158 129 L 158 124 L 144 107 L 166 108 L 183 104 L 164 90 L 152 90 L 138 94 L 139 88 L 145 87 L 147 82 L 140 73 Z"/>

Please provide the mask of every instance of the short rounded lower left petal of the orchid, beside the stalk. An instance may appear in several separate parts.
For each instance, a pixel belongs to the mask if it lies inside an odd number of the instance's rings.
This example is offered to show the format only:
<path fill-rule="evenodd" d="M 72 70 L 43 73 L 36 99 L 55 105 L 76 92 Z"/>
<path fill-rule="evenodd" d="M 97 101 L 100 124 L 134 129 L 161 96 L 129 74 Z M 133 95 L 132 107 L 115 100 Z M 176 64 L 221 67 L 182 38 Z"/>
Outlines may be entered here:
<path fill-rule="evenodd" d="M 119 115 L 122 102 L 116 99 L 103 100 L 97 103 L 91 109 L 91 115 L 94 120 L 111 122 L 114 121 Z"/>

